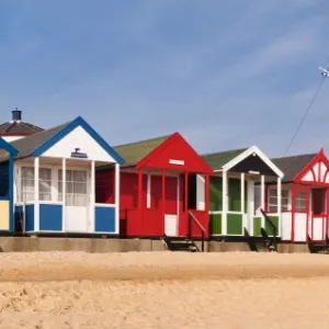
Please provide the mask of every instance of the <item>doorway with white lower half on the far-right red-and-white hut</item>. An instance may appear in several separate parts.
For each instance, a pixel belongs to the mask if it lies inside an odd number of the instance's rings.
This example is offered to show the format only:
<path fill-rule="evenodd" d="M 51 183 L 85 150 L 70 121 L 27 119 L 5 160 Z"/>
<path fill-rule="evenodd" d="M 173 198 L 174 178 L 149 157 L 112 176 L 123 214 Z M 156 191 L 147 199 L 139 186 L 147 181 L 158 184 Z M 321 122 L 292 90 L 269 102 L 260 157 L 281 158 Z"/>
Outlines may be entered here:
<path fill-rule="evenodd" d="M 308 235 L 313 240 L 322 241 L 326 238 L 326 189 L 311 189 L 310 200 L 310 223 L 308 225 Z"/>

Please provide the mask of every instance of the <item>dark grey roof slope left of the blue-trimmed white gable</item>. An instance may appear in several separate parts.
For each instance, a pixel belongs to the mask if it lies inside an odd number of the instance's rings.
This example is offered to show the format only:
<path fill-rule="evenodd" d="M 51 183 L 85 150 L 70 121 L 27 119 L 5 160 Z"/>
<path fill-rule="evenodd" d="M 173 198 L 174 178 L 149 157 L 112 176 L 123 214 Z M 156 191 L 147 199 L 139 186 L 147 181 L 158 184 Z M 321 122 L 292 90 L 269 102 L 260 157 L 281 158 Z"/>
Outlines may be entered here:
<path fill-rule="evenodd" d="M 69 123 L 26 136 L 24 138 L 13 140 L 10 144 L 19 151 L 16 158 L 29 157 L 36 148 L 46 143 L 50 137 L 55 136 Z"/>

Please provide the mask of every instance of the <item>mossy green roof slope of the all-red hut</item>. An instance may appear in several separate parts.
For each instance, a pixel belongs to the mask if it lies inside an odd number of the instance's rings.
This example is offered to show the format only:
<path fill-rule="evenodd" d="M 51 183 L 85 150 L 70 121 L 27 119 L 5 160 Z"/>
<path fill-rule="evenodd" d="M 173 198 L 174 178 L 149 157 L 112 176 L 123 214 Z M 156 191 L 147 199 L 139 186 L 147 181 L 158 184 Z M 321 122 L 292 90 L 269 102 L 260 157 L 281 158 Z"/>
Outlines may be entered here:
<path fill-rule="evenodd" d="M 125 164 L 136 164 L 171 135 L 114 146 L 114 150 L 125 160 Z"/>

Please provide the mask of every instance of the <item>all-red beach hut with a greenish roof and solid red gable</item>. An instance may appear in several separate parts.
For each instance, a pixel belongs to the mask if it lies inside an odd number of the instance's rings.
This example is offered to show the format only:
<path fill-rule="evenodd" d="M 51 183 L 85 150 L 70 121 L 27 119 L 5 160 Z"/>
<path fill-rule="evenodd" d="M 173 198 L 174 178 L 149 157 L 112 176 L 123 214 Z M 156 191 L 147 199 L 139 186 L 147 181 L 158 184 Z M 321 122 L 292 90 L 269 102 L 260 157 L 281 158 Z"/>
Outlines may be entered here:
<path fill-rule="evenodd" d="M 170 136 L 114 147 L 121 168 L 120 222 L 126 237 L 208 235 L 208 180 L 212 168 L 188 141 Z M 97 171 L 97 200 L 113 202 L 113 171 Z"/>

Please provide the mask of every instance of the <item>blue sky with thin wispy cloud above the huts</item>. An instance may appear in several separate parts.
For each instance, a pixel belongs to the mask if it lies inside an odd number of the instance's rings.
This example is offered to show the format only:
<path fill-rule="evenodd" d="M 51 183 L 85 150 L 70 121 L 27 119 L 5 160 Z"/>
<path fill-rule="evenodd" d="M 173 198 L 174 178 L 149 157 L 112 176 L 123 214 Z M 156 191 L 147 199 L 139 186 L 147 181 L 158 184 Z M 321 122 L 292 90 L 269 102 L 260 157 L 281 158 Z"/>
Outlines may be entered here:
<path fill-rule="evenodd" d="M 328 0 L 2 0 L 0 113 L 110 144 L 180 132 L 281 156 L 329 59 Z M 291 154 L 329 154 L 329 79 Z"/>

